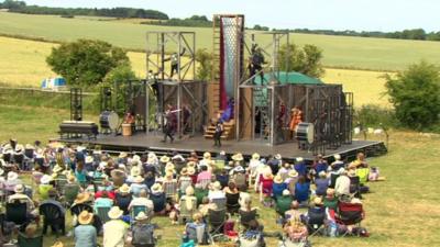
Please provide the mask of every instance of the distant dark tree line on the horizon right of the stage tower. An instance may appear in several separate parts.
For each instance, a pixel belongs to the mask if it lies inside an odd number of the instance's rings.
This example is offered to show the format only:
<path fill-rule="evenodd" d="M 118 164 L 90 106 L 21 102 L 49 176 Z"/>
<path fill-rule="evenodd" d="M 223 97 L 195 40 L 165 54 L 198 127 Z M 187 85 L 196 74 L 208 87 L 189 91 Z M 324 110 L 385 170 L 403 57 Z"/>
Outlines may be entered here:
<path fill-rule="evenodd" d="M 413 30 L 404 30 L 404 31 L 396 31 L 396 32 L 380 32 L 380 31 L 356 32 L 353 30 L 334 31 L 334 30 L 309 30 L 309 29 L 295 29 L 295 30 L 274 29 L 274 31 L 289 31 L 289 32 L 294 32 L 294 33 L 355 36 L 355 37 L 382 37 L 382 38 L 415 40 L 415 41 L 440 41 L 440 32 L 428 33 L 424 29 L 413 29 Z"/>

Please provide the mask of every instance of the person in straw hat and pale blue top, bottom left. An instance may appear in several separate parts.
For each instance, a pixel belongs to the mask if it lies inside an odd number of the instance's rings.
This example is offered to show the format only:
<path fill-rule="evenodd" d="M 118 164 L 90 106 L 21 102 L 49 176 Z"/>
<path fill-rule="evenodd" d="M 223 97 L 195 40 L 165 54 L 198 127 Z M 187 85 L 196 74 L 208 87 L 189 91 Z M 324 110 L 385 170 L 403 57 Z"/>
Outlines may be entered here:
<path fill-rule="evenodd" d="M 91 225 L 94 214 L 82 211 L 78 215 L 79 225 L 74 229 L 75 247 L 96 247 L 97 246 L 97 231 Z"/>

